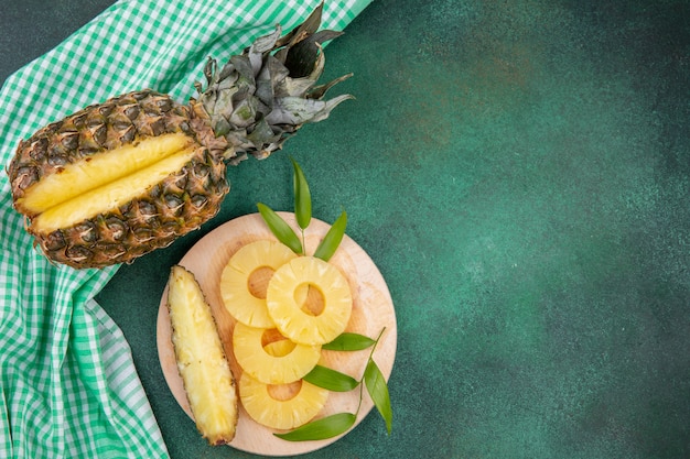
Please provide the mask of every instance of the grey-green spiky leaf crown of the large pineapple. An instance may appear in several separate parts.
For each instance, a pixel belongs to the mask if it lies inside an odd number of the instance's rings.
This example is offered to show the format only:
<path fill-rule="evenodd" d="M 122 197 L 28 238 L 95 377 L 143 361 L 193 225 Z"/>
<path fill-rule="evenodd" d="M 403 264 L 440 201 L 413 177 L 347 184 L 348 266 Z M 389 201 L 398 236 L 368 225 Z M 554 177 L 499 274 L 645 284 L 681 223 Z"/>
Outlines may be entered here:
<path fill-rule="evenodd" d="M 195 83 L 200 101 L 216 136 L 225 138 L 226 160 L 236 164 L 247 153 L 269 156 L 306 122 L 326 119 L 351 95 L 324 100 L 326 91 L 352 76 L 316 86 L 325 57 L 322 44 L 342 34 L 317 31 L 323 3 L 298 28 L 281 36 L 278 24 L 242 54 L 218 67 L 208 58 L 204 67 L 206 89 Z"/>

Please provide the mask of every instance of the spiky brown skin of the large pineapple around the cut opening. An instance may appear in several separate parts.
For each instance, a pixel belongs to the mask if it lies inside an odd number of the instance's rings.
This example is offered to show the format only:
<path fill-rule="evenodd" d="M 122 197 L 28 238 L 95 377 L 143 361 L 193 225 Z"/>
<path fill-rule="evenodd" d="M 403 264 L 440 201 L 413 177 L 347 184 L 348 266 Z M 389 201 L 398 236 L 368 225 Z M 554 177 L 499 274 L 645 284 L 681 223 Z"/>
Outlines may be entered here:
<path fill-rule="evenodd" d="M 66 164 L 166 133 L 184 133 L 196 146 L 181 171 L 125 206 L 68 228 L 43 233 L 32 227 L 36 215 L 22 206 L 22 197 L 43 177 L 60 174 Z M 28 231 L 50 260 L 77 269 L 103 267 L 166 247 L 213 218 L 229 190 L 218 154 L 224 150 L 203 110 L 144 90 L 89 106 L 41 129 L 20 143 L 8 174 L 14 207 L 26 216 Z"/>

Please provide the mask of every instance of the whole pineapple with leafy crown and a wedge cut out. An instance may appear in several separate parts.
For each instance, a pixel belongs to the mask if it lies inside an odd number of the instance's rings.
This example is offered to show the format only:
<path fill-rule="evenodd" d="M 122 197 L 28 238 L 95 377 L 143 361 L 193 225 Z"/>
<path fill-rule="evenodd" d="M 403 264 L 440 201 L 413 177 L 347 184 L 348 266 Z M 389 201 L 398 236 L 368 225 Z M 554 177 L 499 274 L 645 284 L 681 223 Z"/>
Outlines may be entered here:
<path fill-rule="evenodd" d="M 181 105 L 153 90 L 89 106 L 20 142 L 8 167 L 14 208 L 53 262 L 76 269 L 131 262 L 197 229 L 229 190 L 226 163 L 267 157 L 303 123 L 327 118 L 347 76 L 324 67 L 323 6 L 300 26 L 259 37 Z"/>

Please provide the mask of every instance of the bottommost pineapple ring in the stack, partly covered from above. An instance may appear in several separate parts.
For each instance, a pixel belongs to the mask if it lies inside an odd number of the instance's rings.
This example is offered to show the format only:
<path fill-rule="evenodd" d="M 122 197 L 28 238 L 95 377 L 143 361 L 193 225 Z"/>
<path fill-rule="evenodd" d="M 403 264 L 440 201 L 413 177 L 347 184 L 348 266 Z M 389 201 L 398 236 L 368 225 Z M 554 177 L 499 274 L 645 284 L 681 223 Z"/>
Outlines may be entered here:
<path fill-rule="evenodd" d="M 319 414 L 328 400 L 328 391 L 302 380 L 273 386 L 245 372 L 239 379 L 239 397 L 257 423 L 274 429 L 292 429 Z"/>

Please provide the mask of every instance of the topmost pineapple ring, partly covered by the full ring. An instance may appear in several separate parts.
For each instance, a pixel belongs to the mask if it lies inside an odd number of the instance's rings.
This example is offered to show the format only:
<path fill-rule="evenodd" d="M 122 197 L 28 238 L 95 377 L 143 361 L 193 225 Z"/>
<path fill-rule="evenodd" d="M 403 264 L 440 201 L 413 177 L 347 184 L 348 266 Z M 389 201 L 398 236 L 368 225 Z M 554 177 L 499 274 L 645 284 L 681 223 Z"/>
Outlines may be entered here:
<path fill-rule="evenodd" d="M 230 258 L 220 276 L 225 308 L 241 324 L 273 328 L 266 308 L 266 287 L 273 272 L 297 254 L 278 241 L 248 243 Z"/>

